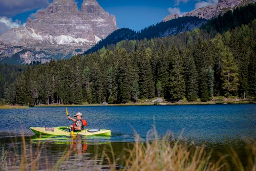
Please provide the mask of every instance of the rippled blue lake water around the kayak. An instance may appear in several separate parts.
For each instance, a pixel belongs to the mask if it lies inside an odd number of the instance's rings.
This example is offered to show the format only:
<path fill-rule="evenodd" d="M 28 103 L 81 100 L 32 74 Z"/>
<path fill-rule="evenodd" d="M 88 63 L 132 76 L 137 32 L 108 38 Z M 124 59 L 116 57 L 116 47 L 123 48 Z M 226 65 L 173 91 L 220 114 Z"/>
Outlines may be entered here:
<path fill-rule="evenodd" d="M 199 144 L 203 142 L 210 148 L 224 148 L 227 144 L 233 143 L 239 149 L 240 146 L 244 146 L 241 141 L 256 140 L 255 104 L 68 107 L 68 111 L 70 115 L 82 112 L 88 124 L 87 128 L 108 128 L 112 136 L 37 139 L 29 127 L 68 126 L 69 122 L 66 118 L 65 107 L 32 107 L 0 110 L 2 121 L 0 143 L 19 148 L 22 145 L 19 137 L 24 132 L 27 148 L 37 151 L 37 146 L 40 144 L 41 155 L 49 158 L 43 162 L 48 162 L 50 166 L 54 165 L 66 149 L 70 150 L 72 157 L 62 168 L 70 170 L 68 166 L 74 161 L 77 164 L 72 165 L 73 169 L 84 168 L 85 161 L 89 168 L 95 167 L 95 162 L 102 162 L 102 160 L 95 160 L 95 154 L 101 154 L 103 149 L 107 149 L 110 145 L 116 154 L 122 153 L 128 146 L 127 142 L 134 141 L 135 131 L 146 139 L 147 132 L 152 125 L 155 125 L 160 135 L 165 135 L 168 130 L 177 136 L 182 132 L 181 135 L 185 140 Z M 10 150 L 10 153 L 13 151 Z M 241 151 L 241 155 L 242 153 Z M 40 168 L 45 169 L 43 166 Z M 107 167 L 101 169 L 104 170 Z"/>

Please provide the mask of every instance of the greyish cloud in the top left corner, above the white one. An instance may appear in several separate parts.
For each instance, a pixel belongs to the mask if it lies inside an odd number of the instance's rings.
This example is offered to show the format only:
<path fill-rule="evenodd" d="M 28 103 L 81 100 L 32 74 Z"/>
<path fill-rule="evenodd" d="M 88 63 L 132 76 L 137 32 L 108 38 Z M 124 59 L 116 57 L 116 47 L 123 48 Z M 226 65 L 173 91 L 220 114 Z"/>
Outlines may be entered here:
<path fill-rule="evenodd" d="M 49 0 L 0 0 L 0 16 L 13 17 L 26 11 L 45 8 Z"/>

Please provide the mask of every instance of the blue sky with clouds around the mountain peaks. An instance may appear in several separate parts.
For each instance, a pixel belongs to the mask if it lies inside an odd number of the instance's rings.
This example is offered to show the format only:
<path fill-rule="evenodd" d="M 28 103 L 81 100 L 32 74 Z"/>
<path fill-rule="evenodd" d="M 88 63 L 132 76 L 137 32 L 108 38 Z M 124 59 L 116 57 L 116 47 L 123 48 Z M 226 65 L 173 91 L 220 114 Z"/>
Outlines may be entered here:
<path fill-rule="evenodd" d="M 83 0 L 74 0 L 80 8 Z M 109 13 L 116 17 L 119 28 L 127 27 L 135 31 L 162 21 L 171 13 L 184 13 L 195 8 L 216 4 L 217 0 L 97 0 Z M 52 0 L 0 0 L 0 34 L 3 23 L 24 24 L 38 9 L 45 9 Z M 6 29 L 7 29 L 6 27 Z M 3 30 L 3 31 L 1 31 Z"/>

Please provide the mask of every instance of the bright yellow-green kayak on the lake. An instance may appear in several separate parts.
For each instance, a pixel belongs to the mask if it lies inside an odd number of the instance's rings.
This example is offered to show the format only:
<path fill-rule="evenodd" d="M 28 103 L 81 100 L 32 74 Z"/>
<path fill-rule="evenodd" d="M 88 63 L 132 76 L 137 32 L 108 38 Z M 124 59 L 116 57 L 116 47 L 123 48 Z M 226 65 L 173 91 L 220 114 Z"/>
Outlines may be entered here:
<path fill-rule="evenodd" d="M 69 136 L 70 127 L 54 127 L 54 128 L 47 128 L 47 127 L 30 127 L 30 129 L 35 134 L 40 135 L 57 135 L 57 136 Z M 70 129 L 71 131 L 72 129 Z M 75 135 L 82 135 L 82 136 L 110 136 L 111 130 L 109 129 L 83 129 L 81 131 L 74 132 Z"/>

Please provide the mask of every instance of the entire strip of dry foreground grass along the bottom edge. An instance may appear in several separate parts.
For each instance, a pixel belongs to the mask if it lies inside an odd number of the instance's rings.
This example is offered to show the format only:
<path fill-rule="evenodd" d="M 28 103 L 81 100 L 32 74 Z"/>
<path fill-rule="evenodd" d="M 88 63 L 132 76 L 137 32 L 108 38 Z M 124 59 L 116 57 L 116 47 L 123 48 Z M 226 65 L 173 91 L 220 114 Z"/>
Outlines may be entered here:
<path fill-rule="evenodd" d="M 159 138 L 155 129 L 148 132 L 147 140 L 140 141 L 139 135 L 135 137 L 134 146 L 127 150 L 127 155 L 117 158 L 118 154 L 114 154 L 113 148 L 109 146 L 112 151 L 112 156 L 108 157 L 107 153 L 97 158 L 98 153 L 95 155 L 94 167 L 91 170 L 101 170 L 96 161 L 108 161 L 108 169 L 115 171 L 122 168 L 124 171 L 256 171 L 256 144 L 251 143 L 249 146 L 249 155 L 247 164 L 242 164 L 235 150 L 231 149 L 228 154 L 221 155 L 218 159 L 212 158 L 212 152 L 205 150 L 204 146 L 190 146 L 179 139 L 175 140 L 170 133 L 167 133 L 163 138 Z M 14 153 L 10 152 L 9 148 L 0 149 L 0 170 L 61 170 L 69 168 L 66 162 L 69 160 L 72 151 L 63 151 L 62 156 L 57 162 L 50 163 L 50 159 L 46 160 L 42 168 L 41 144 L 38 144 L 36 151 L 26 147 L 24 137 L 22 137 L 22 150 L 21 153 L 14 149 Z M 12 157 L 6 156 L 10 155 Z M 10 160 L 11 158 L 11 160 Z M 125 163 L 120 164 L 120 159 Z M 86 162 L 83 159 L 83 163 Z M 44 160 L 45 161 L 45 160 Z M 75 160 L 76 161 L 76 160 Z M 79 160 L 77 160 L 79 161 Z M 80 161 L 81 162 L 81 161 Z M 77 162 L 79 165 L 80 162 Z M 120 167 L 121 165 L 121 167 Z M 73 163 L 72 169 L 76 169 L 76 162 Z M 85 168 L 86 169 L 86 168 Z M 88 169 L 88 168 L 87 168 Z"/>

